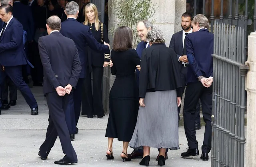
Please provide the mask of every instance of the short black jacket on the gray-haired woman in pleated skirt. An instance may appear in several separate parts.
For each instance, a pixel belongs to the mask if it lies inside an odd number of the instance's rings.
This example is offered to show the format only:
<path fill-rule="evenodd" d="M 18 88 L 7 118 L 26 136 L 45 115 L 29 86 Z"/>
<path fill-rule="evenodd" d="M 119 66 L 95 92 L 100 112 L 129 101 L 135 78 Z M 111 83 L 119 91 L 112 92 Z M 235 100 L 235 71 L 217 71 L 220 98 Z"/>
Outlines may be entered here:
<path fill-rule="evenodd" d="M 143 50 L 141 58 L 139 97 L 146 92 L 177 90 L 181 96 L 182 82 L 176 53 L 164 43 L 154 43 Z"/>

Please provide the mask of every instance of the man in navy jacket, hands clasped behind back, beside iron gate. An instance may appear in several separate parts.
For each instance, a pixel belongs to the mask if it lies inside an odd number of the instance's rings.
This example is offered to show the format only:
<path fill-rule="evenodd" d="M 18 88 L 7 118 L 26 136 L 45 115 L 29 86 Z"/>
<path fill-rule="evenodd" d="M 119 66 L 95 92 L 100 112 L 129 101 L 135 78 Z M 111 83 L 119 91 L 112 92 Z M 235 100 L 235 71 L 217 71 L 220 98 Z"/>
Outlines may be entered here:
<path fill-rule="evenodd" d="M 193 33 L 186 36 L 186 54 L 189 67 L 187 88 L 184 100 L 184 128 L 188 140 L 188 151 L 182 157 L 199 155 L 196 129 L 194 126 L 196 104 L 200 99 L 205 122 L 204 142 L 201 159 L 208 161 L 212 140 L 212 81 L 213 81 L 213 43 L 214 35 L 208 31 L 209 21 L 198 14 L 192 21 Z"/>

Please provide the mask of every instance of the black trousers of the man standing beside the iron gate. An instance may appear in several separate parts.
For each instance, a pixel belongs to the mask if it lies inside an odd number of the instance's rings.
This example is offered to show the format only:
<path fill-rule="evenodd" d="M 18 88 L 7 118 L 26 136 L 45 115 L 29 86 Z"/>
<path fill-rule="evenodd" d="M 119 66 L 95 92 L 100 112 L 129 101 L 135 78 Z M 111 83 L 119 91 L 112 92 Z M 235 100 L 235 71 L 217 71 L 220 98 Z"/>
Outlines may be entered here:
<path fill-rule="evenodd" d="M 194 108 L 199 99 L 202 102 L 203 118 L 206 124 L 202 153 L 209 153 L 212 147 L 212 86 L 206 88 L 200 82 L 187 84 L 183 112 L 185 134 L 188 140 L 188 147 L 190 149 L 198 148 L 198 142 L 196 141 L 196 128 L 194 124 L 196 118 Z"/>

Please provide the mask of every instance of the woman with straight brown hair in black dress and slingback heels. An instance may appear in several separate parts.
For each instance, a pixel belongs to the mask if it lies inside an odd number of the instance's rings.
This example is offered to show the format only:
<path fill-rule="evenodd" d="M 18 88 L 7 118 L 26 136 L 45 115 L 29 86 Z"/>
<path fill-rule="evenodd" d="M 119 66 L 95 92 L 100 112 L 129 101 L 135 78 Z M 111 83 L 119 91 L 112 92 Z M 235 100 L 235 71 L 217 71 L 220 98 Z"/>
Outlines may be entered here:
<path fill-rule="evenodd" d="M 140 57 L 132 47 L 132 32 L 126 26 L 116 29 L 111 51 L 113 66 L 112 75 L 116 80 L 109 94 L 109 117 L 106 129 L 108 137 L 107 159 L 114 159 L 112 155 L 113 139 L 123 142 L 121 157 L 126 161 L 131 159 L 127 155 L 128 143 L 132 138 L 138 116 L 138 86 L 135 69 L 140 65 Z"/>

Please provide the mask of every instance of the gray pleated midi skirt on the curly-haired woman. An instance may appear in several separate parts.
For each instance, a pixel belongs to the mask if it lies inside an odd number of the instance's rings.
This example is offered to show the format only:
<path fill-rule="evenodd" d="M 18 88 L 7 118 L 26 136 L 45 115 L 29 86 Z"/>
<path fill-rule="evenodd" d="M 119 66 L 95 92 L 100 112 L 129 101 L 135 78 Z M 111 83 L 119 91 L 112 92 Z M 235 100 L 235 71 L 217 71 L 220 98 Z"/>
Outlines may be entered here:
<path fill-rule="evenodd" d="M 129 146 L 179 149 L 176 90 L 147 92 Z"/>

